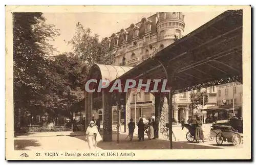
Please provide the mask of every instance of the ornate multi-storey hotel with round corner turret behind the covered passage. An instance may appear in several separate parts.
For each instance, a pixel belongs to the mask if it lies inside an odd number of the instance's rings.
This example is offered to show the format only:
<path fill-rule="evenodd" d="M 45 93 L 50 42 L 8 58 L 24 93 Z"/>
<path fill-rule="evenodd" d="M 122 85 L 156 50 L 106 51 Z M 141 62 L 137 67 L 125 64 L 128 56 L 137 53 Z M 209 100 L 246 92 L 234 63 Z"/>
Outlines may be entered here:
<path fill-rule="evenodd" d="M 185 28 L 184 17 L 181 12 L 162 12 L 156 13 L 148 18 L 142 18 L 138 23 L 131 23 L 130 27 L 121 29 L 119 32 L 106 37 L 108 46 L 112 54 L 115 54 L 115 64 L 119 66 L 134 67 L 145 59 L 150 58 L 157 51 L 175 42 L 176 39 L 183 37 Z M 151 49 L 150 45 L 152 45 Z M 211 98 L 215 92 L 215 100 L 209 99 L 207 105 L 216 105 L 216 89 L 209 95 Z M 137 93 L 137 94 L 136 94 Z M 188 92 L 179 93 L 173 96 L 173 118 L 180 122 L 185 121 L 192 115 L 189 109 L 190 98 Z M 131 117 L 137 122 L 140 117 L 145 115 L 147 118 L 155 115 L 154 96 L 147 92 L 132 91 Z M 121 108 L 120 119 L 124 123 L 125 107 Z M 100 118 L 102 109 L 95 109 L 93 114 Z M 117 107 L 112 107 L 113 123 L 117 123 Z M 168 121 L 168 112 L 165 113 L 165 121 Z"/>

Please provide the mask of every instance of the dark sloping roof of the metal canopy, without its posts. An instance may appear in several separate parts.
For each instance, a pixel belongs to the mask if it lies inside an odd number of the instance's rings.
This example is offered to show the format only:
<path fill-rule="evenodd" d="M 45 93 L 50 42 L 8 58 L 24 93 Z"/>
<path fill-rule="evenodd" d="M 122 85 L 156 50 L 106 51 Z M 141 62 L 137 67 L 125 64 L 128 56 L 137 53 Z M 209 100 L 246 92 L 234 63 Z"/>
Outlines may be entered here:
<path fill-rule="evenodd" d="M 117 79 L 146 83 L 147 79 L 167 79 L 167 72 L 173 77 L 172 84 L 168 83 L 173 93 L 242 83 L 242 31 L 243 11 L 228 10 Z"/>

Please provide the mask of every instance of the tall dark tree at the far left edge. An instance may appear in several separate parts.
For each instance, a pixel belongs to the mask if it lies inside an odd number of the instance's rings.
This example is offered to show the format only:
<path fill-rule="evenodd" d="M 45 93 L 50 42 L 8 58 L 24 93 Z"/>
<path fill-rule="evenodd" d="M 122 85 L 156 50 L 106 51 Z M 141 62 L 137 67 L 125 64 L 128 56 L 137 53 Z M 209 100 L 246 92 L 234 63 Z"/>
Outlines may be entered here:
<path fill-rule="evenodd" d="M 46 86 L 51 83 L 48 57 L 54 48 L 49 41 L 59 33 L 45 21 L 42 13 L 13 13 L 15 128 L 22 124 L 20 118 L 42 109 Z"/>

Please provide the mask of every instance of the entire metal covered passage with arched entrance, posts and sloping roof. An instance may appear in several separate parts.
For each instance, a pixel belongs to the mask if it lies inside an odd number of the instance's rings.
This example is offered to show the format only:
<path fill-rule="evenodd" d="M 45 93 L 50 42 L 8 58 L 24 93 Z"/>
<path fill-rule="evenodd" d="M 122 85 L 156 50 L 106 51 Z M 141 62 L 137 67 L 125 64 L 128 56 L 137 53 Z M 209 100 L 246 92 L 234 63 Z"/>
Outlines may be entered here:
<path fill-rule="evenodd" d="M 146 83 L 148 79 L 167 79 L 167 87 L 171 89 L 171 92 L 168 95 L 166 93 L 153 94 L 155 95 L 155 116 L 159 119 L 159 130 L 161 127 L 165 127 L 165 121 L 161 121 L 161 119 L 163 119 L 165 111 L 168 111 L 170 149 L 172 149 L 173 94 L 234 81 L 242 83 L 242 31 L 243 11 L 228 10 L 136 67 L 129 67 L 120 75 L 113 72 L 114 76 L 111 76 L 109 80 L 113 84 L 116 79 L 120 79 L 124 86 L 127 79 L 142 79 L 143 83 Z M 104 65 L 104 67 L 108 68 L 106 70 L 113 68 L 116 72 L 117 67 L 119 68 L 119 66 L 108 65 Z M 103 72 L 102 68 L 103 66 L 94 65 L 88 79 L 105 79 L 112 75 L 109 71 Z M 115 78 L 115 76 L 117 77 Z M 97 85 L 97 83 L 94 84 L 94 88 Z M 93 95 L 102 98 L 104 141 L 112 141 L 112 97 L 107 92 L 109 88 L 105 88 L 103 93 L 84 93 L 87 120 L 92 111 L 93 98 L 97 98 Z M 130 94 L 131 91 L 126 93 L 124 103 L 126 128 L 127 121 L 131 119 Z"/>

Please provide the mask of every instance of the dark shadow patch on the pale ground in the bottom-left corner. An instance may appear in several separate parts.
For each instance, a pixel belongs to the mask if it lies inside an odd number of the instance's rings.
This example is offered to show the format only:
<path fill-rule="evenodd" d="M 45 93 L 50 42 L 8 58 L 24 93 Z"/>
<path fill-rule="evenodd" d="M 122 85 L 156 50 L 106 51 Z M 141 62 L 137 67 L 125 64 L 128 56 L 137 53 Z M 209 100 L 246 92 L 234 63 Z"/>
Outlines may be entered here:
<path fill-rule="evenodd" d="M 14 140 L 14 150 L 29 150 L 27 147 L 38 147 L 40 144 L 37 140 L 27 140 L 27 139 L 15 139 Z"/>

